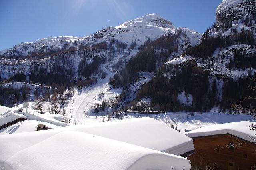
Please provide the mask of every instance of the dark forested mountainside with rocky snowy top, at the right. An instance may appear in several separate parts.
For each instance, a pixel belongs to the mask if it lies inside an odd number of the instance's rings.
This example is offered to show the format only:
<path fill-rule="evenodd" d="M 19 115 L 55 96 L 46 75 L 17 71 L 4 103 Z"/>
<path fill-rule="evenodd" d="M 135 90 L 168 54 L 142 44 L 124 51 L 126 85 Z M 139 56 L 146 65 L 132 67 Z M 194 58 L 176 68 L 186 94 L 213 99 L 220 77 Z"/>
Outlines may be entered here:
<path fill-rule="evenodd" d="M 251 95 L 246 86 L 252 77 L 256 77 L 256 0 L 223 0 L 216 23 L 206 29 L 200 43 L 183 56 L 169 58 L 142 86 L 137 99 L 151 98 L 151 105 L 166 110 L 232 113 L 232 104 L 239 101 L 255 105 L 242 100 Z"/>

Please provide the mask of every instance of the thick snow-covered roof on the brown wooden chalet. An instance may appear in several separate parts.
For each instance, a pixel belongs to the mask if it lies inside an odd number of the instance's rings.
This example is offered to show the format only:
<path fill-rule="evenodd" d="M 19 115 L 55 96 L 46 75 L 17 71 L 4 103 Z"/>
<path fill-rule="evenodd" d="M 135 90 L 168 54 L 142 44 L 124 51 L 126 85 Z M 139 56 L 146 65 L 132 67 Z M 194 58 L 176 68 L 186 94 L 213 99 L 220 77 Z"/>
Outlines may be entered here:
<path fill-rule="evenodd" d="M 244 140 L 255 142 L 250 137 L 256 139 L 256 131 L 250 130 L 249 126 L 252 126 L 254 122 L 242 121 L 242 122 L 232 122 L 224 124 L 216 124 L 211 126 L 204 126 L 185 134 L 190 138 L 220 135 L 220 134 L 231 134 L 242 138 Z"/>

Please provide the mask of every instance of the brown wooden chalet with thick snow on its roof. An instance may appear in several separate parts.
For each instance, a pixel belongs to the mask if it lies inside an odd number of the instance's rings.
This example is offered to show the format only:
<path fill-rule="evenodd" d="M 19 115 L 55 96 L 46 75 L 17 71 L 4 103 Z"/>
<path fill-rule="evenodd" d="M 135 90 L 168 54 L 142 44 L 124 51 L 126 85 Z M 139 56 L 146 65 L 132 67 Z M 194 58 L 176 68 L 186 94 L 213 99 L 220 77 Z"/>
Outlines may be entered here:
<path fill-rule="evenodd" d="M 253 122 L 205 126 L 186 132 L 194 140 L 195 153 L 188 159 L 193 168 L 251 170 L 256 165 L 256 131 Z"/>

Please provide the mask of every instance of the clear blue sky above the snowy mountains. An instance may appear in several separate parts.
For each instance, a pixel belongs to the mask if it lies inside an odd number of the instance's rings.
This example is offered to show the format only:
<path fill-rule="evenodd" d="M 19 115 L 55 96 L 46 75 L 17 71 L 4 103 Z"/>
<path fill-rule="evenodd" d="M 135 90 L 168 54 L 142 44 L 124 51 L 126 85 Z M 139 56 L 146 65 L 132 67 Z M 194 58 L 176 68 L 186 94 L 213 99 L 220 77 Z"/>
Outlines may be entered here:
<path fill-rule="evenodd" d="M 54 36 L 91 35 L 150 13 L 203 33 L 222 0 L 0 0 L 0 50 Z"/>

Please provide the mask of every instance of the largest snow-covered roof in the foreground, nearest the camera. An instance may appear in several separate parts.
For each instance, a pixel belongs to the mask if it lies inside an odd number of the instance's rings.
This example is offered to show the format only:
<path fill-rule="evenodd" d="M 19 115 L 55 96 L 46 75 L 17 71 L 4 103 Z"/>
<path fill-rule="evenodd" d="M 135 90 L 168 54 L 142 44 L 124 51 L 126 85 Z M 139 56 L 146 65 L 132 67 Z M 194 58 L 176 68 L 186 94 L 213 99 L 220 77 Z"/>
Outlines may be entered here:
<path fill-rule="evenodd" d="M 190 170 L 190 161 L 180 156 L 83 132 L 65 131 L 52 136 L 51 131 L 40 131 L 39 138 L 46 139 L 34 144 L 36 133 L 0 136 L 0 169 Z M 28 143 L 21 144 L 23 139 Z M 13 152 L 16 148 L 20 151 Z"/>

